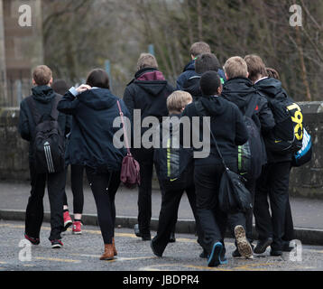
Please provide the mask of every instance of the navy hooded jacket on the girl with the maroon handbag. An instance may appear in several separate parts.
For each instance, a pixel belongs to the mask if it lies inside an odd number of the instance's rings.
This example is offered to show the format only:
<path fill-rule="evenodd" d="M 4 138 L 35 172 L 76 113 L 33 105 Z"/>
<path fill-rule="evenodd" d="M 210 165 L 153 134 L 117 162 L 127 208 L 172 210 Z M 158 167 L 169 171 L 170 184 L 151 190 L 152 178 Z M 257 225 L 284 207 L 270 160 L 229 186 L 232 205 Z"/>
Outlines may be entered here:
<path fill-rule="evenodd" d="M 119 110 L 119 100 L 125 117 L 130 117 L 122 99 L 109 89 L 91 89 L 75 98 L 68 92 L 60 100 L 60 112 L 73 116 L 67 147 L 67 163 L 89 166 L 97 172 L 120 171 L 125 148 L 115 148 L 113 127 Z"/>

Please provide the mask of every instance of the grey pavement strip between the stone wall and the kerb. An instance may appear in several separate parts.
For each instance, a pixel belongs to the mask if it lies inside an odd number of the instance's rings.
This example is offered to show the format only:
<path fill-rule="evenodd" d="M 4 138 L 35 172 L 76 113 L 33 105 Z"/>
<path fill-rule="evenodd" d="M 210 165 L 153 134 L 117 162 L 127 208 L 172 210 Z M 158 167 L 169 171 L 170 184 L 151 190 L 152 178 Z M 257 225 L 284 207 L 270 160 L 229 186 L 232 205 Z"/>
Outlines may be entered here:
<path fill-rule="evenodd" d="M 25 210 L 30 195 L 28 182 L 0 182 L 0 210 Z M 71 212 L 73 196 L 69 187 L 67 195 Z M 115 196 L 117 216 L 137 216 L 137 190 L 121 187 Z M 84 190 L 84 214 L 96 214 L 96 205 L 89 188 Z M 158 218 L 161 209 L 161 191 L 152 191 L 152 218 Z M 50 211 L 48 196 L 44 197 L 44 210 Z M 291 210 L 295 227 L 323 229 L 323 200 L 291 198 Z M 180 201 L 179 219 L 193 219 L 186 194 Z"/>

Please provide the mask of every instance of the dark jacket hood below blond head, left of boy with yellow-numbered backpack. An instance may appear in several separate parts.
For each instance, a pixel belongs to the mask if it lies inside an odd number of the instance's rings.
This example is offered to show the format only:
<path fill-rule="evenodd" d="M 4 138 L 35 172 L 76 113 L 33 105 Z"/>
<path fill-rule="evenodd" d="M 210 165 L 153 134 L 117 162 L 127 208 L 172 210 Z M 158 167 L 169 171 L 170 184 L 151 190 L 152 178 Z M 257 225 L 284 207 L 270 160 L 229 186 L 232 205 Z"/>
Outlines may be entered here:
<path fill-rule="evenodd" d="M 250 79 L 236 78 L 226 81 L 221 96 L 241 109 L 248 105 L 254 93 L 256 89 Z"/>

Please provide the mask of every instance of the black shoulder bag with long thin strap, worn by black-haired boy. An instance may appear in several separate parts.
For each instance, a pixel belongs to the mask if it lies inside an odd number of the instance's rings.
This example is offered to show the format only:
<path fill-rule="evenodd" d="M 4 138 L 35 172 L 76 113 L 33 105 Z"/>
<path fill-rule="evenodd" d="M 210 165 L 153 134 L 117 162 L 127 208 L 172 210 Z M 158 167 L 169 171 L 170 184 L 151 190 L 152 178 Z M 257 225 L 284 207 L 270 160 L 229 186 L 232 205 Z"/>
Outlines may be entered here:
<path fill-rule="evenodd" d="M 219 207 L 226 213 L 246 212 L 253 209 L 251 193 L 245 188 L 245 178 L 231 171 L 225 162 L 223 155 L 217 145 L 217 139 L 208 126 L 210 134 L 214 139 L 217 154 L 221 158 L 225 172 L 223 172 L 218 193 Z"/>

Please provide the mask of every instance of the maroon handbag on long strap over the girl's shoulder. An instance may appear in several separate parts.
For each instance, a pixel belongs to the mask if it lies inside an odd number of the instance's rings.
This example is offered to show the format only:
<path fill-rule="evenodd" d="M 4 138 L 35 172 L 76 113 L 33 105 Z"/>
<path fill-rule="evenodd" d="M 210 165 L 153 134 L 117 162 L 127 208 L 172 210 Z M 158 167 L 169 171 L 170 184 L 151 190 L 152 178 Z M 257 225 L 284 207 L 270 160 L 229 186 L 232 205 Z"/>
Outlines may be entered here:
<path fill-rule="evenodd" d="M 128 136 L 125 130 L 124 113 L 122 112 L 119 100 L 117 100 L 116 103 L 124 128 L 125 147 L 127 150 L 127 154 L 125 155 L 121 165 L 120 181 L 123 182 L 127 188 L 134 188 L 135 185 L 140 184 L 140 165 L 130 152 Z"/>

